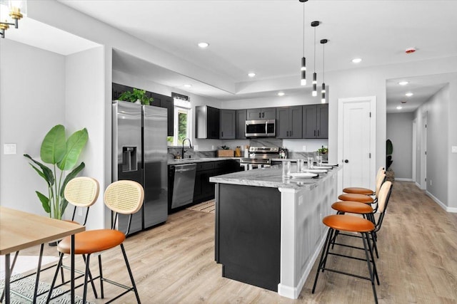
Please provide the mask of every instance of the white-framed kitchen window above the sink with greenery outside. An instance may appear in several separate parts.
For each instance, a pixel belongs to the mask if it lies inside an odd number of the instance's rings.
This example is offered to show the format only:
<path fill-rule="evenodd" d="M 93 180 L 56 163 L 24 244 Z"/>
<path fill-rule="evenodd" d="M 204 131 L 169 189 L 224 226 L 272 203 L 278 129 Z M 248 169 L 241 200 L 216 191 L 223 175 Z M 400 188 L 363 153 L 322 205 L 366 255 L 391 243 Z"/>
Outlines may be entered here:
<path fill-rule="evenodd" d="M 191 103 L 174 98 L 173 136 L 167 137 L 169 146 L 182 145 L 186 137 L 191 137 Z"/>

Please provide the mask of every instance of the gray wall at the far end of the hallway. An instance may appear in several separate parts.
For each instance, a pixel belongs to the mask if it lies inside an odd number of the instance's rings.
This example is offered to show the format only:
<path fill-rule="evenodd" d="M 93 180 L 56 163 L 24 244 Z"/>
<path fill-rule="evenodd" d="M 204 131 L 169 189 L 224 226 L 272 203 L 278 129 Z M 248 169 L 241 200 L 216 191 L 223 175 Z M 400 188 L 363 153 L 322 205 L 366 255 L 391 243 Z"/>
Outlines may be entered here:
<path fill-rule="evenodd" d="M 387 114 L 387 138 L 392 141 L 392 169 L 396 179 L 413 178 L 413 112 Z"/>

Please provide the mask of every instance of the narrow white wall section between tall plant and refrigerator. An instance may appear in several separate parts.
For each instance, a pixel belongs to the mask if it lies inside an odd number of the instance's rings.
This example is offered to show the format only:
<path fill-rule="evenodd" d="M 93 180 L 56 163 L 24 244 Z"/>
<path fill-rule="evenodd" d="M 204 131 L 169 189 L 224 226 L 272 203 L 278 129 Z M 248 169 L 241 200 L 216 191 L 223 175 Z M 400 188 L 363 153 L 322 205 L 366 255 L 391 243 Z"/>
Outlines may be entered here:
<path fill-rule="evenodd" d="M 89 132 L 89 140 L 80 158 L 86 167 L 80 175 L 94 177 L 101 187 L 101 195 L 91 207 L 86 226 L 88 229 L 102 229 L 104 221 L 100 219 L 104 219 L 106 185 L 104 159 L 111 152 L 104 149 L 104 47 L 66 56 L 65 80 L 66 127 L 73 131 L 86 127 Z"/>

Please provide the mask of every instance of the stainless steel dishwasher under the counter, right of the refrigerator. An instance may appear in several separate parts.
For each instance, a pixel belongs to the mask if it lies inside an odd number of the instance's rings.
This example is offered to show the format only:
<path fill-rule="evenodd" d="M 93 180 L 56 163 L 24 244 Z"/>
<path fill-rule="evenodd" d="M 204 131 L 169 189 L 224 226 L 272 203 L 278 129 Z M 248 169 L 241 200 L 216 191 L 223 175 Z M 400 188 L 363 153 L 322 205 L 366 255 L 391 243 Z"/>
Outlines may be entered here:
<path fill-rule="evenodd" d="M 171 209 L 190 204 L 194 199 L 196 164 L 174 165 Z"/>

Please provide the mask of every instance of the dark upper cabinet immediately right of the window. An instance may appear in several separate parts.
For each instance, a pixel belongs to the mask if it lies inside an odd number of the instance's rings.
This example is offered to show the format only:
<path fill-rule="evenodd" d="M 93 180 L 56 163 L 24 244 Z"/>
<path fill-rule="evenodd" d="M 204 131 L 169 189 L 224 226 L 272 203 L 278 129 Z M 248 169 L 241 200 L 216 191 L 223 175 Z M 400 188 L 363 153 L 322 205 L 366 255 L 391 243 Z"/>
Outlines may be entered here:
<path fill-rule="evenodd" d="M 220 111 L 208 105 L 195 107 L 195 138 L 219 139 Z"/>

